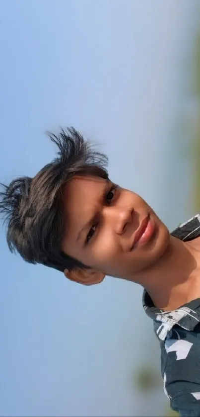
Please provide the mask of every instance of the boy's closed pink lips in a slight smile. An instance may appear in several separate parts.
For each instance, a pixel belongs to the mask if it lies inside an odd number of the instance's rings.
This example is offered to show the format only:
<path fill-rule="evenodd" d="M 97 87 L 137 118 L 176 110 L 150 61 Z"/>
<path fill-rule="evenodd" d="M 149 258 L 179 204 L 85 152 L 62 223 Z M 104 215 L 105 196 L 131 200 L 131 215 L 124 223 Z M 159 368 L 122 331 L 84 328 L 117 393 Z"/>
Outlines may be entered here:
<path fill-rule="evenodd" d="M 137 229 L 135 233 L 131 250 L 135 249 L 139 245 L 142 245 L 148 242 L 151 236 L 153 235 L 154 229 L 155 229 L 155 225 L 152 222 L 152 219 L 150 219 L 150 215 L 148 214 L 148 216 L 146 216 L 142 220 L 139 228 Z"/>

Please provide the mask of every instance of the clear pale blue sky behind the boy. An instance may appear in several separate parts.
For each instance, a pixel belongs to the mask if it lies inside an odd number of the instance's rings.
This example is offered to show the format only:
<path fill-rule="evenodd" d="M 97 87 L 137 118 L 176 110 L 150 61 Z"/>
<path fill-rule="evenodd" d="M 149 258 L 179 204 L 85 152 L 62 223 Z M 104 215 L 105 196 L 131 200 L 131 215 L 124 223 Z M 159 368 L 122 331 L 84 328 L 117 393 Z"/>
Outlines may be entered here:
<path fill-rule="evenodd" d="M 73 125 L 165 218 L 166 132 L 196 4 L 1 1 L 0 180 L 33 176 L 55 156 L 45 131 Z M 75 285 L 10 254 L 2 229 L 0 249 L 0 415 L 144 415 L 132 384 L 152 333 L 142 289 Z"/>

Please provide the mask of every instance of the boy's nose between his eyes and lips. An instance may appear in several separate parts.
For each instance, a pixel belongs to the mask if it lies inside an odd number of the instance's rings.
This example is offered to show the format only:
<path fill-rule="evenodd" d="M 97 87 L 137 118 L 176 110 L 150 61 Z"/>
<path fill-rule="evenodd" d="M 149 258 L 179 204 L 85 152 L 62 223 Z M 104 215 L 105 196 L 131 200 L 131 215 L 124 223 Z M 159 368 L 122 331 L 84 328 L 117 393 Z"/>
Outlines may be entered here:
<path fill-rule="evenodd" d="M 128 207 L 107 207 L 107 220 L 112 225 L 115 233 L 123 235 L 127 227 L 133 221 L 133 208 Z"/>

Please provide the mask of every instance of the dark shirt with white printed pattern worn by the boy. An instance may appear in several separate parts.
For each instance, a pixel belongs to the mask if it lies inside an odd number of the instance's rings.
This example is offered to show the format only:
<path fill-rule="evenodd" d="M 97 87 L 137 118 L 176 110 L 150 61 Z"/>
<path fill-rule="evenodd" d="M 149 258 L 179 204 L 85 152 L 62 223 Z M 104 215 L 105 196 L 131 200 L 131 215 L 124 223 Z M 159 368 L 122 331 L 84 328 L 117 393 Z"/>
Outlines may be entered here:
<path fill-rule="evenodd" d="M 200 236 L 200 214 L 172 233 L 182 241 Z M 161 347 L 164 392 L 182 417 L 200 417 L 200 298 L 173 311 L 154 307 L 144 290 L 143 308 L 153 320 Z"/>

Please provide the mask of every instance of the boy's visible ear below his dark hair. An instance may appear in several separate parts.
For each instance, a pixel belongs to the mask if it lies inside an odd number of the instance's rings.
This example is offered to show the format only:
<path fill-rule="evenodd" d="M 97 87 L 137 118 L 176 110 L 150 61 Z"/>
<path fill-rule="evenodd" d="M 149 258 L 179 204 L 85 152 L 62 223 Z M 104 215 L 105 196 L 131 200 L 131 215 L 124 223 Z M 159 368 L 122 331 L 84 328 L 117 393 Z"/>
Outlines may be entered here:
<path fill-rule="evenodd" d="M 104 273 L 95 271 L 94 269 L 74 268 L 71 271 L 65 269 L 64 274 L 70 281 L 78 282 L 83 285 L 100 284 L 105 278 Z"/>

